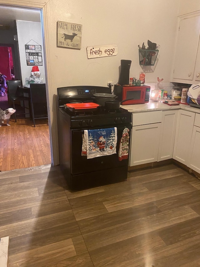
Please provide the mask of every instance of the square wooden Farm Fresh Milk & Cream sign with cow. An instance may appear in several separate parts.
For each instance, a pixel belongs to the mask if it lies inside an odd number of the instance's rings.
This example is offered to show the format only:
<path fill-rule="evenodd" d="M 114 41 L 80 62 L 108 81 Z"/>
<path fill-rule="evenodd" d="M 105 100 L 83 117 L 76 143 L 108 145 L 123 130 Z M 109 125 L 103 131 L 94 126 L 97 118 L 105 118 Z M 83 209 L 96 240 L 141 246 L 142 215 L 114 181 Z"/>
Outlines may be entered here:
<path fill-rule="evenodd" d="M 81 24 L 57 22 L 57 47 L 81 49 L 81 38 Z"/>

